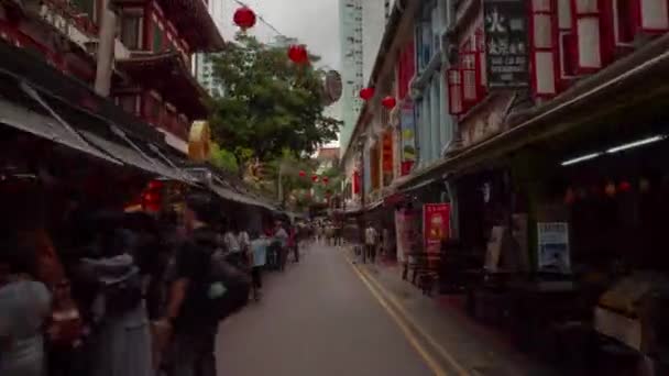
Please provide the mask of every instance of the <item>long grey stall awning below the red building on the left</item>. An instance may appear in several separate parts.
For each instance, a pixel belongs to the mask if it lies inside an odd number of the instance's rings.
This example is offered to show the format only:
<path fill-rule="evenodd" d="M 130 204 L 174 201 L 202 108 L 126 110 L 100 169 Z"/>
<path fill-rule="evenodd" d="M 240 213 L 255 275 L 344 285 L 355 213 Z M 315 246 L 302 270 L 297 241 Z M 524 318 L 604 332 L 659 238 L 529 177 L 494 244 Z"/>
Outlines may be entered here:
<path fill-rule="evenodd" d="M 20 54 L 18 51 L 15 53 Z M 0 60 L 0 123 L 116 165 L 127 165 L 158 177 L 191 183 L 169 161 L 150 151 L 150 145 L 158 143 L 160 139 L 124 131 L 95 111 L 95 106 L 80 107 L 76 101 L 65 99 L 63 95 L 67 90 L 53 95 L 40 89 L 24 76 L 3 69 L 2 63 L 6 59 L 12 60 L 12 57 L 3 56 Z M 53 74 L 62 75 L 57 71 Z M 116 111 L 122 112 L 118 108 Z"/>

